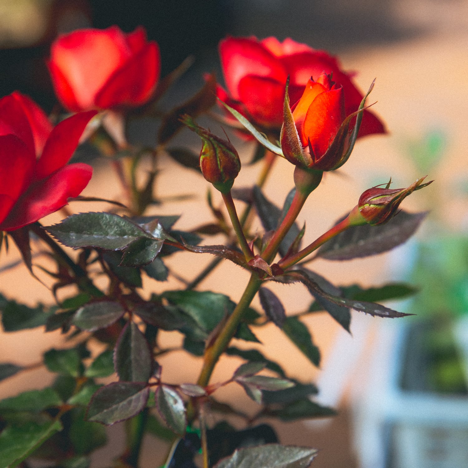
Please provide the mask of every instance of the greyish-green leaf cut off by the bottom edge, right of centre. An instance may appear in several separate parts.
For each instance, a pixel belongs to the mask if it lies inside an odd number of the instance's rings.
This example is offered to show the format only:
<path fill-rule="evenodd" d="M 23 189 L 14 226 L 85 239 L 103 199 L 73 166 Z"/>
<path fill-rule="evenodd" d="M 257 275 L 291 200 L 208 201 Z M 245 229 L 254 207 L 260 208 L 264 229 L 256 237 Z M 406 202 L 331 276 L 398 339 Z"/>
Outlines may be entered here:
<path fill-rule="evenodd" d="M 316 454 L 313 448 L 267 444 L 238 449 L 214 468 L 308 468 Z"/>

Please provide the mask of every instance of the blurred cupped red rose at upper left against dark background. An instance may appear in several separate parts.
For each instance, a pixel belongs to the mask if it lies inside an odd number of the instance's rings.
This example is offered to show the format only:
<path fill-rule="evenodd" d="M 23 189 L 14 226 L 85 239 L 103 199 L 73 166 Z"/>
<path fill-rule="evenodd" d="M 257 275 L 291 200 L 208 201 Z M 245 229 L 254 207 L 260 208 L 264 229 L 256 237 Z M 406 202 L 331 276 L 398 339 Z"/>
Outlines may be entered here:
<path fill-rule="evenodd" d="M 143 28 L 125 34 L 117 26 L 59 36 L 49 60 L 55 92 L 74 112 L 145 103 L 160 66 L 158 44 L 147 41 Z"/>

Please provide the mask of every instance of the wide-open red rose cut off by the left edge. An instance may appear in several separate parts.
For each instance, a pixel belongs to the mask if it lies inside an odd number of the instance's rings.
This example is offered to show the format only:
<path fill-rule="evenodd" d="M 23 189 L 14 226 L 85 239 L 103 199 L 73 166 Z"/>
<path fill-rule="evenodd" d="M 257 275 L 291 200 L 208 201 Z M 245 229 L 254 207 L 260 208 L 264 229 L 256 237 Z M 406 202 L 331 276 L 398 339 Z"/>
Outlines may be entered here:
<path fill-rule="evenodd" d="M 66 163 L 95 114 L 75 114 L 52 128 L 28 97 L 0 99 L 0 231 L 33 223 L 80 195 L 93 170 Z"/>

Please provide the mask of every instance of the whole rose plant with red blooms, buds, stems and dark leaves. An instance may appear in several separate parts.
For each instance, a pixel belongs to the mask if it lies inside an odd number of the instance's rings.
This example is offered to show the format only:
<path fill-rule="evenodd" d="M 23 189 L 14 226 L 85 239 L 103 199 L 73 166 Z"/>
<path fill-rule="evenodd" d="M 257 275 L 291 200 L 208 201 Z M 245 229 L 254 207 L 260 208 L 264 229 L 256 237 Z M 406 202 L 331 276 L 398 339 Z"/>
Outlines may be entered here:
<path fill-rule="evenodd" d="M 125 421 L 127 439 L 114 467 L 139 466 L 147 432 L 170 443 L 165 467 L 197 466 L 200 447 L 204 468 L 308 467 L 316 454 L 313 448 L 280 445 L 267 424 L 235 430 L 223 418 L 237 415 L 252 426 L 268 418 L 329 417 L 333 409 L 312 401 L 317 391 L 313 384 L 288 378 L 287 370 L 263 352 L 237 348 L 232 339 L 258 342 L 256 327 L 271 322 L 319 366 L 320 352 L 303 316 L 323 310 L 349 331 L 351 310 L 379 317 L 405 315 L 374 301 L 406 295 L 412 291 L 409 286 L 393 285 L 391 297 L 385 286 L 372 291 L 335 286 L 305 263 L 317 257 L 349 260 L 375 255 L 406 241 L 424 213 L 396 216 L 396 210 L 404 197 L 428 183 L 419 179 L 407 189 L 390 189 L 388 184 L 366 190 L 343 219 L 324 227 L 307 246 L 302 245 L 305 228 L 296 222 L 307 198 L 322 183 L 323 171 L 341 167 L 358 137 L 384 132 L 380 119 L 366 107 L 373 85 L 361 95 L 336 59 L 292 39 L 280 43 L 272 37 L 263 41 L 228 37 L 219 51 L 229 95 L 210 75 L 187 102 L 164 110 L 157 108 L 157 97 L 184 66 L 155 91 L 159 52 L 143 29 L 130 34 L 117 27 L 75 31 L 52 44 L 49 67 L 59 101 L 77 113 L 52 126 L 28 97 L 13 93 L 0 100 L 0 248 L 15 242 L 29 271 L 41 271 L 44 281 L 50 277 L 55 300 L 50 307 L 31 308 L 0 295 L 3 328 L 11 332 L 45 326 L 46 332 L 61 329 L 66 338 L 74 339 L 63 349 L 46 351 L 35 366 L 0 365 L 0 380 L 42 365 L 56 374 L 48 388 L 0 401 L 0 467 L 28 466 L 24 463 L 30 458 L 53 466 L 88 467 L 90 454 L 106 442 L 103 425 L 120 421 Z M 215 105 L 216 90 L 226 112 L 217 118 L 232 124 L 234 131 L 242 126 L 251 135 L 252 146 L 268 154 L 259 163 L 263 168 L 258 181 L 247 190 L 234 190 L 241 170 L 234 145 L 195 120 Z M 152 105 L 147 106 L 150 100 Z M 128 109 L 142 106 L 147 115 L 161 119 L 158 144 L 154 148 L 126 144 L 123 153 L 119 141 L 100 123 L 109 111 L 130 118 Z M 97 111 L 100 115 L 85 131 Z M 184 126 L 202 140 L 199 157 L 188 148 L 172 146 Z M 44 227 L 40 219 L 80 195 L 91 177 L 88 165 L 67 164 L 80 138 L 88 138 L 88 144 L 117 170 L 124 203 L 80 197 L 110 202 L 110 209 L 72 214 Z M 221 192 L 227 216 L 214 207 L 211 192 L 208 203 L 214 220 L 190 232 L 174 228 L 178 216 L 155 213 L 153 206 L 164 201 L 155 196 L 162 154 L 201 172 Z M 284 203 L 271 202 L 262 191 L 277 157 L 294 165 L 293 188 Z M 244 208 L 239 216 L 240 204 Z M 265 230 L 261 237 L 251 229 L 254 213 Z M 224 245 L 201 244 L 213 234 L 224 235 Z M 43 246 L 55 269 L 37 263 L 31 239 L 34 246 Z M 165 263 L 175 252 L 211 254 L 214 260 L 196 278 L 187 279 L 186 272 L 171 271 Z M 250 274 L 237 303 L 227 294 L 199 288 L 222 259 Z M 183 288 L 148 299 L 142 275 L 162 282 L 170 273 Z M 97 283 L 98 276 L 107 282 Z M 305 285 L 312 296 L 310 307 L 286 314 L 268 288 L 271 282 Z M 250 307 L 257 294 L 262 310 Z M 160 340 L 161 330 L 177 330 L 183 344 L 168 348 Z M 92 352 L 96 343 L 104 349 L 98 355 Z M 165 379 L 158 360 L 181 350 L 200 357 L 196 381 Z M 243 364 L 227 381 L 212 381 L 213 369 L 225 354 L 241 358 Z M 102 379 L 112 375 L 114 381 L 104 385 Z M 231 383 L 258 404 L 256 414 L 246 415 L 217 400 L 217 390 Z M 217 415 L 219 424 L 212 425 L 215 419 L 207 418 L 208 412 Z M 252 440 L 258 444 L 251 446 Z M 270 444 L 263 446 L 265 442 Z"/>

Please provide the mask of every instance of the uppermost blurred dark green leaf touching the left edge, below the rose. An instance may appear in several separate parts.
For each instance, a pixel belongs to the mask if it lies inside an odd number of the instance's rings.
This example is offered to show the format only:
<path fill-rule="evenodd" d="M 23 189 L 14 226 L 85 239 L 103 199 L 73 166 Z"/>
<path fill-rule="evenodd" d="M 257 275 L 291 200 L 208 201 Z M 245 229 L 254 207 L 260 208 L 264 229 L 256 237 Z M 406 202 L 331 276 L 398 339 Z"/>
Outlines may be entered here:
<path fill-rule="evenodd" d="M 3 329 L 5 331 L 18 331 L 45 325 L 53 311 L 45 312 L 44 306 L 38 304 L 31 308 L 18 304 L 15 300 L 7 300 L 0 294 L 0 312 Z"/>

